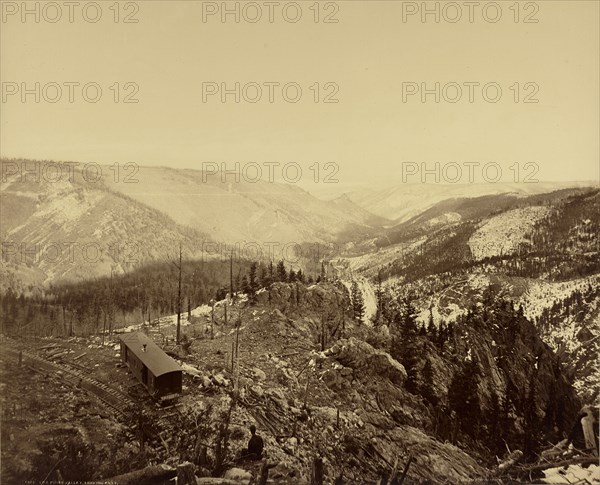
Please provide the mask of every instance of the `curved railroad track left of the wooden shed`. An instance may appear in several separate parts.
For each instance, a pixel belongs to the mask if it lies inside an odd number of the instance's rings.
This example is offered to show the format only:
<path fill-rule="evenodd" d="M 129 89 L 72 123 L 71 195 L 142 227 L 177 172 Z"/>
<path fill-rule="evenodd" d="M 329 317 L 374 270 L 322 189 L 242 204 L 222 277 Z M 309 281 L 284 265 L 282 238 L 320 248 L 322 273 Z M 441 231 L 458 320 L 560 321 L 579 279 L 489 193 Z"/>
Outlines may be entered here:
<path fill-rule="evenodd" d="M 4 352 L 13 354 L 18 358 L 18 350 L 3 350 Z M 77 368 L 72 368 L 67 364 L 51 362 L 28 351 L 22 352 L 23 364 L 30 367 L 33 371 L 46 373 L 58 373 L 60 371 L 65 381 L 73 386 L 79 386 L 88 391 L 90 394 L 93 394 L 103 403 L 117 411 L 124 418 L 128 418 L 130 410 L 135 407 L 135 403 L 127 396 L 116 389 L 113 389 L 107 384 L 85 375 Z"/>

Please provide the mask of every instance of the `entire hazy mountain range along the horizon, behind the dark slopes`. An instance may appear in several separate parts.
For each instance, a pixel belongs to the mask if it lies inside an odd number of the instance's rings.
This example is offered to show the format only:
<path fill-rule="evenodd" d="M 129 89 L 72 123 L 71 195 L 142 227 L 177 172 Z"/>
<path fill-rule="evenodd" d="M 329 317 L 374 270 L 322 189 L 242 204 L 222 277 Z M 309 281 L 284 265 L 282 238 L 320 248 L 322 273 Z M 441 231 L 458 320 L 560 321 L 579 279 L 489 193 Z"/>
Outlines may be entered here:
<path fill-rule="evenodd" d="M 139 167 L 128 177 L 102 166 L 97 180 L 77 169 L 63 170 L 59 180 L 36 180 L 14 173 L 35 162 L 0 163 L 4 286 L 122 273 L 174 260 L 179 244 L 188 258 L 215 257 L 221 245 L 255 245 L 264 256 L 268 248 L 308 243 L 350 244 L 366 253 L 405 239 L 415 227 L 425 233 L 564 185 L 401 184 L 324 200 L 294 184 L 231 175 L 223 182 L 220 174 L 189 169 Z M 40 173 L 56 167 L 38 163 Z"/>

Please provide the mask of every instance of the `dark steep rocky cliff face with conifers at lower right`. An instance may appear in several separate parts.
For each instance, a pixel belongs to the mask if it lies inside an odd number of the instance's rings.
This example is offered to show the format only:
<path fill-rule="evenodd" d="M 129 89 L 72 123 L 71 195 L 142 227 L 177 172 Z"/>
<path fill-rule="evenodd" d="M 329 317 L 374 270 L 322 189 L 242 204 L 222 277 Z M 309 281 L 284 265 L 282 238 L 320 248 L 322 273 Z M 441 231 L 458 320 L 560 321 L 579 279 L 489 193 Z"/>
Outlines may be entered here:
<path fill-rule="evenodd" d="M 509 302 L 490 301 L 447 329 L 397 334 L 391 353 L 405 365 L 405 386 L 426 404 L 426 429 L 440 439 L 490 457 L 504 455 L 508 445 L 533 458 L 575 423 L 581 408 L 575 389 Z"/>

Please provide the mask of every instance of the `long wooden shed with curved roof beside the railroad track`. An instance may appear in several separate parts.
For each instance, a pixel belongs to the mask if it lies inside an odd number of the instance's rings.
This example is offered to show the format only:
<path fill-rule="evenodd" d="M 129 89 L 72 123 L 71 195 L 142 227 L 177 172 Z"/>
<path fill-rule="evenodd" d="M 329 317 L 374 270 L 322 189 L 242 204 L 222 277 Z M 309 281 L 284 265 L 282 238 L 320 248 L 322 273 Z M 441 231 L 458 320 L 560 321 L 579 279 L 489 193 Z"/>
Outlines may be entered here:
<path fill-rule="evenodd" d="M 181 367 L 150 337 L 133 332 L 121 335 L 119 340 L 121 360 L 152 397 L 166 400 L 181 394 Z"/>

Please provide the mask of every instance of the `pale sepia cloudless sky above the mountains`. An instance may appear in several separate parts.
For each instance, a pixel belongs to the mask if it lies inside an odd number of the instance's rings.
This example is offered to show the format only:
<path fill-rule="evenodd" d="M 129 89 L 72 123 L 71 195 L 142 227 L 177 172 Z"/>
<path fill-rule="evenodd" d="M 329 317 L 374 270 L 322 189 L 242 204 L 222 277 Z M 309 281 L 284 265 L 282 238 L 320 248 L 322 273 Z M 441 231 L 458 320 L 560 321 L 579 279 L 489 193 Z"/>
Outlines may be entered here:
<path fill-rule="evenodd" d="M 133 12 L 126 2 L 115 23 L 113 1 L 98 2 L 97 23 L 86 22 L 81 8 L 70 23 L 64 2 L 57 2 L 58 22 L 46 20 L 56 15 L 48 7 L 40 10 L 39 23 L 33 14 L 23 23 L 20 11 L 9 14 L 21 2 L 2 2 L 1 154 L 197 169 L 203 162 L 296 162 L 305 170 L 314 162 L 336 163 L 337 178 L 346 183 L 398 180 L 402 162 L 493 161 L 505 170 L 531 162 L 538 164 L 540 180 L 599 179 L 600 2 L 521 2 L 518 23 L 514 1 L 499 2 L 497 23 L 486 21 L 481 8 L 470 23 L 464 2 L 456 2 L 462 10 L 456 23 L 444 17 L 436 23 L 433 15 L 423 23 L 419 13 L 403 22 L 411 2 L 326 3 L 318 23 L 314 1 L 298 2 L 297 23 L 286 22 L 281 7 L 270 23 L 262 1 L 256 2 L 262 9 L 257 23 L 243 17 L 236 23 L 233 15 L 222 23 L 219 14 L 203 22 L 210 2 L 177 0 L 137 2 L 138 23 L 122 22 Z M 441 14 L 447 2 L 426 3 L 432 9 L 439 3 Z M 95 15 L 93 9 L 87 13 Z M 323 23 L 331 13 L 338 22 Z M 290 8 L 288 16 L 294 14 Z M 446 17 L 455 14 L 445 10 Z M 527 15 L 538 22 L 523 23 Z M 48 86 L 48 97 L 56 93 L 48 83 L 95 82 L 103 91 L 93 104 L 75 87 L 69 103 L 63 85 L 56 103 L 43 97 L 35 103 L 34 95 L 23 103 L 20 92 L 8 94 L 23 82 Z M 115 103 L 110 87 L 116 82 L 121 96 L 129 92 L 127 82 L 136 83 L 139 103 Z M 283 100 L 281 88 L 269 103 L 264 85 L 255 104 L 237 104 L 233 95 L 226 103 L 219 96 L 203 103 L 206 82 L 230 88 L 236 82 L 295 82 L 303 91 L 295 104 Z M 326 83 L 339 86 L 339 102 L 315 103 L 315 82 L 321 96 L 331 92 Z M 430 95 L 422 103 L 416 95 L 403 102 L 403 83 L 422 82 L 430 88 L 458 83 L 462 98 L 435 103 Z M 465 82 L 498 83 L 502 96 L 489 103 L 475 87 L 469 103 Z M 533 94 L 539 103 L 522 102 L 534 89 L 526 83 L 539 87 Z M 451 86 L 445 91 L 448 97 L 455 93 Z"/>

